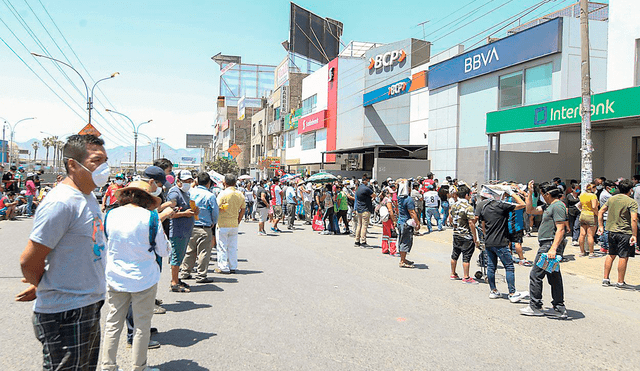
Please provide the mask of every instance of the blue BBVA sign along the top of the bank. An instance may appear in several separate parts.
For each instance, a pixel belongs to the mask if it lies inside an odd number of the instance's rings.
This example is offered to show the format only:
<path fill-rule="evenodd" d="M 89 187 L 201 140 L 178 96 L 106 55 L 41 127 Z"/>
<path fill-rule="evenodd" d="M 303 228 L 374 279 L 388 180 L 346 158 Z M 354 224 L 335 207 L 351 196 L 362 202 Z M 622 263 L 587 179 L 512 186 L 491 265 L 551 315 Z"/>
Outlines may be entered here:
<path fill-rule="evenodd" d="M 562 51 L 562 18 L 429 67 L 429 90 Z"/>

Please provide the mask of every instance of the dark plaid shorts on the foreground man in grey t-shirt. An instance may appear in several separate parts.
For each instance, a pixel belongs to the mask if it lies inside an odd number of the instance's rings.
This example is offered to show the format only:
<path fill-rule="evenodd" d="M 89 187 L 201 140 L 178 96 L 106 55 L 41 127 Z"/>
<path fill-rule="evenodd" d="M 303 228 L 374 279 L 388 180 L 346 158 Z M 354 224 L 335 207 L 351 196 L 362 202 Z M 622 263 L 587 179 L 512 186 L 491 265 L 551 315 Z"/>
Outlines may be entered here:
<path fill-rule="evenodd" d="M 101 300 L 61 313 L 33 313 L 33 328 L 42 343 L 43 370 L 96 369 L 103 304 Z"/>

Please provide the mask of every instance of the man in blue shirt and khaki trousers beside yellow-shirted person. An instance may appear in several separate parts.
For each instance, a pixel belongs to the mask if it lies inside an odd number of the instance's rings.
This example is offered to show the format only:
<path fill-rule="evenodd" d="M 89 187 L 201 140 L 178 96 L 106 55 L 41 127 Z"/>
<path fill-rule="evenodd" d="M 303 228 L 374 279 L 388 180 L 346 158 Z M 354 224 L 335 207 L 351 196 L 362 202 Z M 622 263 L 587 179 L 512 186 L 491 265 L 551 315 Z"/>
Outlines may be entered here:
<path fill-rule="evenodd" d="M 213 282 L 207 277 L 207 272 L 211 251 L 215 247 L 212 228 L 218 223 L 218 202 L 216 196 L 209 191 L 211 183 L 209 174 L 202 172 L 198 174 L 198 185 L 189 190 L 189 197 L 195 202 L 200 213 L 198 220 L 194 222 L 193 233 L 180 266 L 180 279 L 191 279 L 191 270 L 195 266 L 196 283 Z"/>

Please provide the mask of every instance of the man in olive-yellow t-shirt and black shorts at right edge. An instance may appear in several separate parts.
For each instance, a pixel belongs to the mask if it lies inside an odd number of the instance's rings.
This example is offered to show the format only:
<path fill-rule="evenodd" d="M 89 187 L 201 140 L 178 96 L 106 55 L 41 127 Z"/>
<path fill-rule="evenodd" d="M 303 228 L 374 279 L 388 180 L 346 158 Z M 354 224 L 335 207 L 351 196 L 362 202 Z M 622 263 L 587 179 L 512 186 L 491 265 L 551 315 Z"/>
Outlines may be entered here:
<path fill-rule="evenodd" d="M 634 289 L 624 281 L 627 272 L 629 258 L 636 256 L 635 245 L 638 238 L 638 203 L 631 198 L 633 184 L 624 179 L 618 183 L 620 193 L 607 200 L 604 207 L 598 213 L 598 233 L 604 232 L 604 214 L 608 213 L 607 231 L 609 232 L 609 255 L 604 262 L 603 286 L 611 286 L 609 273 L 613 261 L 618 259 L 618 283 L 617 289 Z"/>

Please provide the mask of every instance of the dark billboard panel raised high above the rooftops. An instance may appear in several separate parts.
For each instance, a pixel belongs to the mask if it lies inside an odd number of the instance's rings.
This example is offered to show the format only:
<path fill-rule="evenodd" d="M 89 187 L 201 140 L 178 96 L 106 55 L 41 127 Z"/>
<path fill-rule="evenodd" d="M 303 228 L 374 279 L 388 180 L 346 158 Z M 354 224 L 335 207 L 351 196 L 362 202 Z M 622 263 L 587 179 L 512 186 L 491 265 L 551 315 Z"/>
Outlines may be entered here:
<path fill-rule="evenodd" d="M 342 22 L 322 18 L 294 3 L 289 22 L 290 52 L 321 64 L 329 63 L 340 53 Z"/>

